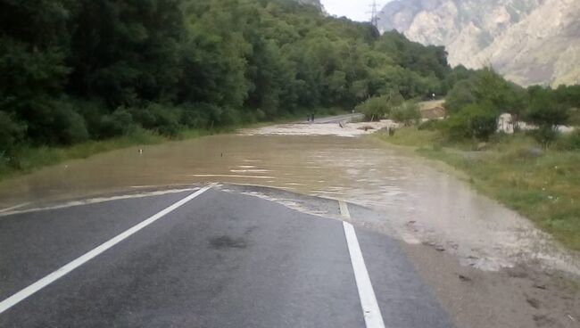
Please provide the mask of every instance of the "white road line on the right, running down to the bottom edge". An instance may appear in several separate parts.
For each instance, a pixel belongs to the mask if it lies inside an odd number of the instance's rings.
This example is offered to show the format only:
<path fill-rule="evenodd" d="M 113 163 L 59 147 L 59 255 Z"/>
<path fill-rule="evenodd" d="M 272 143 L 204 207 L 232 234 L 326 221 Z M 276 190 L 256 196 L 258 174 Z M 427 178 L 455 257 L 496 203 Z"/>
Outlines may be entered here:
<path fill-rule="evenodd" d="M 345 219 L 350 219 L 351 214 L 346 203 L 344 201 L 338 201 L 338 205 L 341 215 Z M 360 305 L 362 306 L 365 324 L 367 328 L 385 328 L 383 316 L 381 316 L 381 309 L 378 307 L 377 297 L 375 296 L 372 283 L 370 283 L 369 271 L 367 271 L 365 260 L 362 257 L 359 240 L 354 232 L 354 226 L 344 221 L 343 227 L 346 244 L 351 255 L 354 280 L 359 290 Z"/>

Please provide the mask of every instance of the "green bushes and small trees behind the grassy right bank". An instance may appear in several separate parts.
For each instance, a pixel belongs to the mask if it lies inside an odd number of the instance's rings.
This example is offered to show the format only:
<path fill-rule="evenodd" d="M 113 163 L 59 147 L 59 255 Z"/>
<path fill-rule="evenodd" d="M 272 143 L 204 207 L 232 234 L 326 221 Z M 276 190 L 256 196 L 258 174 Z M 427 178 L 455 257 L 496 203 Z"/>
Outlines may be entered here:
<path fill-rule="evenodd" d="M 538 128 L 528 133 L 549 145 L 559 136 L 558 126 L 580 125 L 580 86 L 524 88 L 485 68 L 456 83 L 446 96 L 445 108 L 448 119 L 427 127 L 438 126 L 450 140 L 487 141 L 497 132 L 499 116 L 509 113 L 515 132 L 518 122 L 534 124 Z M 575 147 L 580 149 L 580 144 Z"/>

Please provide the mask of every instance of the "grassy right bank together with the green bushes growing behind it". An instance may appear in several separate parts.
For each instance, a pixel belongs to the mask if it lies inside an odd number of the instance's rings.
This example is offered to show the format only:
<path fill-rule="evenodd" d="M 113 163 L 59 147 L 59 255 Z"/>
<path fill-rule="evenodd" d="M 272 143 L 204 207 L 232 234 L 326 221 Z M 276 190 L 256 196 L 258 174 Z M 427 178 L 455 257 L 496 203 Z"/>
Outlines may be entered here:
<path fill-rule="evenodd" d="M 479 191 L 580 250 L 580 86 L 525 89 L 485 69 L 455 84 L 445 107 L 445 119 L 379 136 L 459 168 Z M 513 134 L 498 130 L 505 112 Z M 561 125 L 576 131 L 560 133 Z"/>

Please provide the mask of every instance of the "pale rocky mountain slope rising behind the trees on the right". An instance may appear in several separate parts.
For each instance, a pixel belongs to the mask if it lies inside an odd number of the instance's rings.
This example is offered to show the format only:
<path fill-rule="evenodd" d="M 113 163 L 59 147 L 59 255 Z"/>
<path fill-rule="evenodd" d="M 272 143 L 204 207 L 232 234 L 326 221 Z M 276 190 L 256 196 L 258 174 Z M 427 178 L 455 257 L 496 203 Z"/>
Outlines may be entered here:
<path fill-rule="evenodd" d="M 580 0 L 394 0 L 379 29 L 445 45 L 452 65 L 491 64 L 528 86 L 580 84 Z"/>

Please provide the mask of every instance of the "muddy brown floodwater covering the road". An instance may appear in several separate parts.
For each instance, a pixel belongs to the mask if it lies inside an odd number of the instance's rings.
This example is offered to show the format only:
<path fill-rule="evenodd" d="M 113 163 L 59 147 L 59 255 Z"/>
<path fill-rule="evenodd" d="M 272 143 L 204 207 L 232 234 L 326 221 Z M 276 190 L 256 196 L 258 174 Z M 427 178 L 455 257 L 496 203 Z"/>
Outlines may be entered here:
<path fill-rule="evenodd" d="M 153 186 L 256 184 L 376 209 L 380 217 L 359 224 L 451 251 L 469 266 L 537 260 L 580 272 L 576 254 L 524 217 L 427 160 L 360 136 L 385 125 L 290 124 L 108 152 L 5 181 L 0 209 Z"/>

